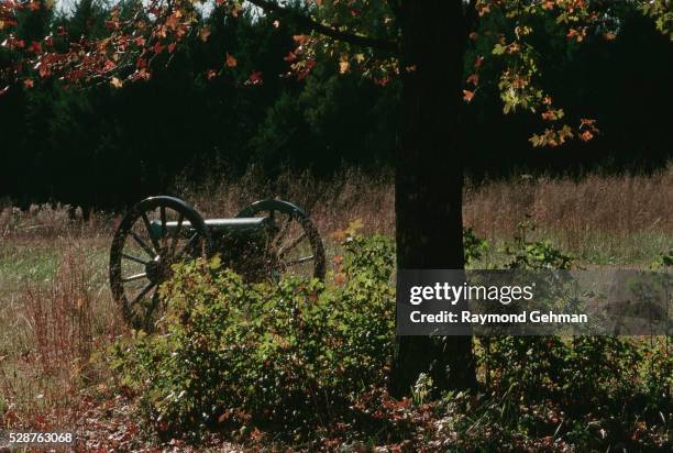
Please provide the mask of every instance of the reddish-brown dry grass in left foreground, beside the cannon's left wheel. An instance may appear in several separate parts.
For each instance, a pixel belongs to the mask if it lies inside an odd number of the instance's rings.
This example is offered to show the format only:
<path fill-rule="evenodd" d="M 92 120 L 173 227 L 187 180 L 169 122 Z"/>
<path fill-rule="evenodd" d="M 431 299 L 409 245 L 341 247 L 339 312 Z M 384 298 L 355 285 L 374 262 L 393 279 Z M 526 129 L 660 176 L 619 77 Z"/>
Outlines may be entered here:
<path fill-rule="evenodd" d="M 54 422 L 100 382 L 104 371 L 91 355 L 124 329 L 90 251 L 54 246 L 59 261 L 46 280 L 26 279 L 0 296 L 0 428 L 38 426 L 47 411 Z"/>

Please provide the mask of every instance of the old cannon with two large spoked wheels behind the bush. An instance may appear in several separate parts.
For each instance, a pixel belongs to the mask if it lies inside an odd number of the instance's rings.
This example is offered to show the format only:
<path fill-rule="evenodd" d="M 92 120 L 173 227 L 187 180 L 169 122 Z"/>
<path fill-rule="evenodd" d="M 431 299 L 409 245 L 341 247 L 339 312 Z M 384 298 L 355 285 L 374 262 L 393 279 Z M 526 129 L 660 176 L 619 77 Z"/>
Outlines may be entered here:
<path fill-rule="evenodd" d="M 173 265 L 216 254 L 247 281 L 326 274 L 316 225 L 288 201 L 261 200 L 234 218 L 205 220 L 186 201 L 151 197 L 123 217 L 110 247 L 110 288 L 126 323 L 152 329 L 163 312 L 158 287 Z"/>

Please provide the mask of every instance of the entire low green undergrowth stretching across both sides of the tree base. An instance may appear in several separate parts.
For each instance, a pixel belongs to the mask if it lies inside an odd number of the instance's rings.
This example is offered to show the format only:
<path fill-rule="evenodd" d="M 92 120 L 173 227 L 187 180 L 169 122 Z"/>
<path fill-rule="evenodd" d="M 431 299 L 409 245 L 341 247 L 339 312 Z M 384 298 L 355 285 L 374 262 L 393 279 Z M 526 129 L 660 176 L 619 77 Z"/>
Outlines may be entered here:
<path fill-rule="evenodd" d="M 140 332 L 115 347 L 123 384 L 159 435 L 194 441 L 218 431 L 255 449 L 305 450 L 384 443 L 603 451 L 670 442 L 665 338 L 482 338 L 478 394 L 432 400 L 432 380 L 419 376 L 410 399 L 390 398 L 394 247 L 358 235 L 360 226 L 341 233 L 343 255 L 327 285 L 251 285 L 217 259 L 177 268 L 163 288 L 162 334 Z M 473 232 L 465 237 L 476 256 L 485 242 Z M 512 263 L 570 265 L 562 252 L 544 250 L 542 258 L 538 247 L 512 250 Z"/>

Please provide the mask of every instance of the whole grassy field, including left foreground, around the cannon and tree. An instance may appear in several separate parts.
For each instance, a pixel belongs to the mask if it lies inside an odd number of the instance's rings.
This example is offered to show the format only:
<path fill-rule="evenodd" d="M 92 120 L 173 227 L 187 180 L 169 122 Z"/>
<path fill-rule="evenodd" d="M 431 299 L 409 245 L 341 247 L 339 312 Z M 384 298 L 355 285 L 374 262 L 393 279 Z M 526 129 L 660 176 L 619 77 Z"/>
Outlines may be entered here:
<path fill-rule="evenodd" d="M 351 170 L 326 183 L 289 174 L 263 181 L 251 173 L 176 192 L 205 217 L 233 216 L 269 196 L 291 200 L 311 212 L 329 255 L 332 233 L 355 220 L 364 233 L 394 234 L 386 175 Z M 477 267 L 501 262 L 498 250 L 522 221 L 536 225 L 531 239 L 551 240 L 583 265 L 647 267 L 673 250 L 673 166 L 653 176 L 525 175 L 467 184 L 464 198 L 465 225 L 490 244 Z M 125 329 L 107 283 L 119 220 L 95 212 L 87 222 L 73 221 L 65 207 L 0 206 L 0 428 L 71 428 L 82 401 L 106 395 L 114 377 L 96 357 Z"/>

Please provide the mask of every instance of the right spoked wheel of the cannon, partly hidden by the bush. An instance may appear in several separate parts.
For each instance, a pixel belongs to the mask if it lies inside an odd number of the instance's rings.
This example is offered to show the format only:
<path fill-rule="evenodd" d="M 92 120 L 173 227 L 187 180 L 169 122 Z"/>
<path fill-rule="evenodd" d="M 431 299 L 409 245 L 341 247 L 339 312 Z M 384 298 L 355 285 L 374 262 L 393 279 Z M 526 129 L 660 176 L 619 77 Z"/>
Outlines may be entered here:
<path fill-rule="evenodd" d="M 308 214 L 283 200 L 256 201 L 236 214 L 267 217 L 274 225 L 269 237 L 271 274 L 279 279 L 283 274 L 311 276 L 324 279 L 324 247 L 320 234 Z"/>

